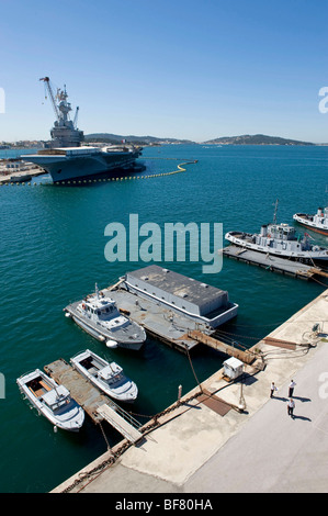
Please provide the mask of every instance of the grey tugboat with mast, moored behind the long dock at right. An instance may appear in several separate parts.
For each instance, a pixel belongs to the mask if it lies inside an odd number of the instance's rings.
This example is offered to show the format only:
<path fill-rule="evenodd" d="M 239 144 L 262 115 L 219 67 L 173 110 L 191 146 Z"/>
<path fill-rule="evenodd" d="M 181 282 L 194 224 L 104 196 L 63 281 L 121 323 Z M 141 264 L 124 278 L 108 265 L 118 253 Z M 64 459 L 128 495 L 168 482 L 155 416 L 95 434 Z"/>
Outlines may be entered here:
<path fill-rule="evenodd" d="M 309 235 L 296 235 L 296 229 L 289 224 L 276 223 L 278 201 L 272 224 L 261 226 L 259 234 L 228 232 L 225 238 L 231 244 L 303 263 L 314 265 L 316 261 L 328 262 L 328 248 L 313 245 Z"/>

